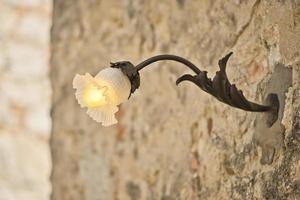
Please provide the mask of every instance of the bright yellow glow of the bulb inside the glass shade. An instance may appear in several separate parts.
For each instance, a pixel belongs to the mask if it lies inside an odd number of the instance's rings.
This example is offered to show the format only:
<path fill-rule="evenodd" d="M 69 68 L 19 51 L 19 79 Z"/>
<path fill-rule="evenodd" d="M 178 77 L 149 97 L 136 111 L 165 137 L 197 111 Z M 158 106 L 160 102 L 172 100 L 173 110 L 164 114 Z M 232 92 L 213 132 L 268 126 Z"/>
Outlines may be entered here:
<path fill-rule="evenodd" d="M 97 108 L 106 104 L 105 92 L 107 87 L 95 83 L 88 84 L 83 90 L 83 102 L 88 108 Z"/>

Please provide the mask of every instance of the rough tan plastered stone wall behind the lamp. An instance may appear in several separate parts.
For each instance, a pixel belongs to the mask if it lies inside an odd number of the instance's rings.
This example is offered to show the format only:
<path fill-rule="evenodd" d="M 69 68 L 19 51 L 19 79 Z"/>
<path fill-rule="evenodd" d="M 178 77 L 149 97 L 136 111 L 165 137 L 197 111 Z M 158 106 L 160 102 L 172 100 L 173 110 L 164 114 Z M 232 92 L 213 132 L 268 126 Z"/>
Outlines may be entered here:
<path fill-rule="evenodd" d="M 52 199 L 300 198 L 299 1 L 55 0 L 53 20 Z M 118 125 L 101 127 L 75 102 L 74 75 L 110 61 L 177 54 L 212 76 L 230 50 L 230 80 L 251 100 L 263 101 L 276 65 L 292 76 L 269 165 L 259 115 L 176 87 L 189 70 L 174 62 L 141 72 Z"/>

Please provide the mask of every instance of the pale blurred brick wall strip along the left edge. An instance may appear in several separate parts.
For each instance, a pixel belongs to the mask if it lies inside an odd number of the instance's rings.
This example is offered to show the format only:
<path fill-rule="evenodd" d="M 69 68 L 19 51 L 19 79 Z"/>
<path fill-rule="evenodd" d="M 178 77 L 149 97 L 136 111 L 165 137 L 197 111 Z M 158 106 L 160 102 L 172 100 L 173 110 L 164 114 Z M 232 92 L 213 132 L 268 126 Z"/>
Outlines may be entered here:
<path fill-rule="evenodd" d="M 47 200 L 51 0 L 0 0 L 0 200 Z"/>

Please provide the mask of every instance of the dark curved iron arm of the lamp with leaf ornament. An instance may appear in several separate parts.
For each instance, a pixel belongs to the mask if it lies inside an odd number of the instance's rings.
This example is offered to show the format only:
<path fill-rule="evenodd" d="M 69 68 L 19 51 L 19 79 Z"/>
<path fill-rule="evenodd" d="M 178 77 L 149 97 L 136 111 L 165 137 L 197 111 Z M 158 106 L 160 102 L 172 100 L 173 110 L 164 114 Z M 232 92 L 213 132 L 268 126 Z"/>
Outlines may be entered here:
<path fill-rule="evenodd" d="M 232 54 L 233 53 L 230 52 L 229 54 L 227 54 L 226 56 L 224 56 L 222 59 L 219 60 L 218 64 L 220 70 L 216 72 L 216 75 L 213 79 L 207 77 L 206 71 L 201 71 L 190 61 L 175 55 L 154 56 L 141 62 L 136 66 L 134 66 L 128 61 L 111 63 L 111 67 L 120 68 L 123 71 L 123 73 L 125 73 L 128 76 L 131 82 L 131 93 L 133 93 L 140 85 L 139 71 L 141 69 L 143 69 L 147 65 L 150 65 L 154 62 L 161 61 L 161 60 L 177 61 L 189 67 L 196 74 L 196 75 L 185 74 L 179 77 L 176 81 L 177 85 L 182 81 L 190 81 L 196 84 L 203 91 L 216 97 L 219 101 L 228 104 L 232 107 L 239 108 L 246 111 L 251 111 L 251 112 L 268 112 L 268 111 L 277 112 L 278 103 L 274 104 L 272 103 L 272 101 L 269 101 L 270 105 L 260 105 L 248 101 L 243 95 L 243 92 L 237 89 L 235 84 L 230 83 L 226 74 L 226 64 Z M 276 94 L 270 94 L 268 98 L 274 100 L 277 98 L 275 96 Z"/>

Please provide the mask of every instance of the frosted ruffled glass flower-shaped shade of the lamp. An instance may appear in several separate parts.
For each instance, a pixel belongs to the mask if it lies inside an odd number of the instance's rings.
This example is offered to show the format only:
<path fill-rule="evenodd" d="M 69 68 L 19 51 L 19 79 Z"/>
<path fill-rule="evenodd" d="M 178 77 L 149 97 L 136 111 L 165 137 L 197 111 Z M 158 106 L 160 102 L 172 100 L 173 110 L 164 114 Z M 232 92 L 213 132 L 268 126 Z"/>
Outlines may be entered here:
<path fill-rule="evenodd" d="M 103 126 L 117 123 L 115 113 L 118 105 L 130 95 L 131 84 L 128 77 L 117 68 L 105 68 L 95 77 L 89 73 L 73 79 L 75 96 L 87 114 Z"/>

